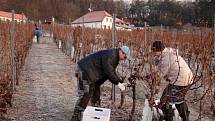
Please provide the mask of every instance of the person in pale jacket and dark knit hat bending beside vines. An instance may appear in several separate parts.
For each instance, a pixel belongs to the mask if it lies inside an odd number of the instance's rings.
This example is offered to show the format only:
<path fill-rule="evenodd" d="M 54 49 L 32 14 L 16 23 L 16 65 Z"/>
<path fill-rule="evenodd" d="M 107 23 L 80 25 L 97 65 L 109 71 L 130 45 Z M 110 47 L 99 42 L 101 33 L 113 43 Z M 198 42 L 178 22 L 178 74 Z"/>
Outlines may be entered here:
<path fill-rule="evenodd" d="M 184 98 L 193 82 L 191 69 L 177 49 L 167 48 L 161 41 L 154 41 L 151 49 L 159 75 L 169 82 L 161 96 L 161 107 L 165 109 L 165 104 L 172 102 L 183 121 L 189 121 L 189 110 Z"/>

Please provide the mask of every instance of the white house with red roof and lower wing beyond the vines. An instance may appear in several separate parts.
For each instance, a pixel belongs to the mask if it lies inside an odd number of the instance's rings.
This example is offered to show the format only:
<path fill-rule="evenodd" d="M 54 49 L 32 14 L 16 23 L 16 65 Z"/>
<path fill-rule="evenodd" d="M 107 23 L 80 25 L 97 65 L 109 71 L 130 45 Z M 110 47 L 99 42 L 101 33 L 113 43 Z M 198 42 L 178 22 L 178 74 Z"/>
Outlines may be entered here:
<path fill-rule="evenodd" d="M 72 22 L 72 26 L 85 26 L 99 29 L 112 29 L 112 15 L 106 11 L 92 11 Z M 130 29 L 129 24 L 123 20 L 116 18 L 116 29 Z"/>

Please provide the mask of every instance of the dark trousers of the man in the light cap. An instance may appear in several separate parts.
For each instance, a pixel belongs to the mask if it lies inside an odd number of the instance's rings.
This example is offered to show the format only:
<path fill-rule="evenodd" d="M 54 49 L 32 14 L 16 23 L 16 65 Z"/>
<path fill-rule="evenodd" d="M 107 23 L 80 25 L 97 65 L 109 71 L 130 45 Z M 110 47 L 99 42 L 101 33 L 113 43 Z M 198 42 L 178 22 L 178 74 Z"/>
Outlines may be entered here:
<path fill-rule="evenodd" d="M 99 80 L 95 84 L 89 84 L 87 80 L 78 79 L 78 100 L 71 121 L 81 121 L 82 114 L 91 99 L 93 106 L 100 106 L 100 86 L 104 81 Z"/>

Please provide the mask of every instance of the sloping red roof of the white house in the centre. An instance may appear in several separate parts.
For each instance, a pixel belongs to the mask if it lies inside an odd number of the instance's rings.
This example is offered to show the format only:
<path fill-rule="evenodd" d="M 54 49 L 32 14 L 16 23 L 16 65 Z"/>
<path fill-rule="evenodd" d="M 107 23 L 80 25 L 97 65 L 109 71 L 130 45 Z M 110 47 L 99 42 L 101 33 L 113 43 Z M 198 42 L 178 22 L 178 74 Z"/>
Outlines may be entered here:
<path fill-rule="evenodd" d="M 90 22 L 102 22 L 105 17 L 112 17 L 112 16 L 106 11 L 93 11 L 83 15 L 82 17 L 84 17 L 84 23 L 90 23 Z M 76 19 L 72 23 L 73 24 L 82 23 L 83 22 L 82 17 Z"/>

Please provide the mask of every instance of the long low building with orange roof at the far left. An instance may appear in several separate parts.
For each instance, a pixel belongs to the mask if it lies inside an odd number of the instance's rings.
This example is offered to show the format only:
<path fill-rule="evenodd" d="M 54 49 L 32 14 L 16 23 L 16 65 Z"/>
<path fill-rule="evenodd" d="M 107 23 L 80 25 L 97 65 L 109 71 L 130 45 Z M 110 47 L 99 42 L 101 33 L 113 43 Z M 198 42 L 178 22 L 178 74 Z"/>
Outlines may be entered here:
<path fill-rule="evenodd" d="M 12 21 L 12 13 L 0 11 L 0 20 L 1 21 Z M 24 14 L 14 14 L 14 20 L 16 22 L 26 22 L 27 18 Z"/>

